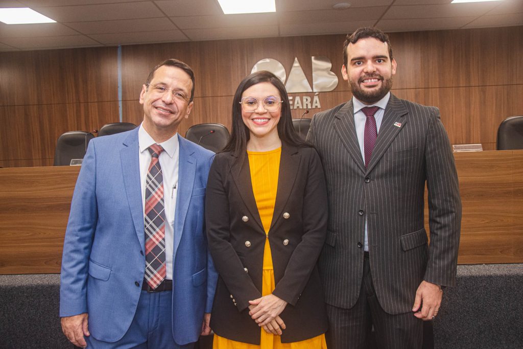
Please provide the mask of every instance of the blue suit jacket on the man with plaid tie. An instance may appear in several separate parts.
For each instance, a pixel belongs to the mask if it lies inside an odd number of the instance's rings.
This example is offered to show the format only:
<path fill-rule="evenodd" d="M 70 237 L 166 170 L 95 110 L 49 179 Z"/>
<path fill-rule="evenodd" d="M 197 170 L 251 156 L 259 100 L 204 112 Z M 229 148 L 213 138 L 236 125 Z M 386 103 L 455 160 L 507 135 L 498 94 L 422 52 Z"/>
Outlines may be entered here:
<path fill-rule="evenodd" d="M 174 223 L 173 336 L 196 342 L 211 312 L 217 273 L 207 252 L 204 198 L 213 153 L 178 136 L 179 181 Z M 144 223 L 138 128 L 89 142 L 65 233 L 60 316 L 87 312 L 89 331 L 116 342 L 140 298 Z"/>

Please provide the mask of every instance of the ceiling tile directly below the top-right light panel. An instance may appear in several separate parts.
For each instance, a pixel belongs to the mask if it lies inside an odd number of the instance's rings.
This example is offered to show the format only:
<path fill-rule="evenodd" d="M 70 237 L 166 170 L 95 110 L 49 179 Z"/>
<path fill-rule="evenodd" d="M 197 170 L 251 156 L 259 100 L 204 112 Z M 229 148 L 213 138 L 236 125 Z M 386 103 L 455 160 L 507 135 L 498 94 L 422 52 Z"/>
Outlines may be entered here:
<path fill-rule="evenodd" d="M 447 5 L 415 5 L 395 6 L 393 5 L 383 19 L 411 19 L 411 18 L 444 18 L 444 17 L 468 17 L 481 16 L 494 8 L 492 2 L 465 3 Z M 406 23 L 408 26 L 408 23 Z"/>

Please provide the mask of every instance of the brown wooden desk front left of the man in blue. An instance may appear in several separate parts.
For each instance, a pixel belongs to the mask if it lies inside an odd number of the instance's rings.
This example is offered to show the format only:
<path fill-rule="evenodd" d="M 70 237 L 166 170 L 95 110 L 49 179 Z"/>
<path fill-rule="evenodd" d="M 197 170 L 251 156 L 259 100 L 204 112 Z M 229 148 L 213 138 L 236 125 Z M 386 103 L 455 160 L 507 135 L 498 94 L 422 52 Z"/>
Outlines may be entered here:
<path fill-rule="evenodd" d="M 60 273 L 80 166 L 0 168 L 0 274 Z"/>

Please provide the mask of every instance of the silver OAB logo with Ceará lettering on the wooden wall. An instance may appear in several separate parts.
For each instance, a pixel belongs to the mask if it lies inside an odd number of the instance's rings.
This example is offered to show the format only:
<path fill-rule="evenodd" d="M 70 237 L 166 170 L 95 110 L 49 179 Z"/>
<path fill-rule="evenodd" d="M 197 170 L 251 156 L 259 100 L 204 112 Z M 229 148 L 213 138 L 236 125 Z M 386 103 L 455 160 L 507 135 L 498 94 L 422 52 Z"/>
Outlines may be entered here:
<path fill-rule="evenodd" d="M 312 56 L 312 88 L 305 77 L 305 73 L 301 68 L 298 58 L 294 58 L 289 77 L 285 67 L 279 61 L 272 58 L 264 58 L 254 64 L 251 73 L 258 72 L 260 70 L 267 70 L 276 76 L 285 84 L 288 93 L 308 93 L 314 92 L 311 96 L 289 96 L 289 105 L 291 109 L 316 109 L 321 108 L 320 98 L 318 95 L 320 92 L 328 92 L 338 86 L 338 77 L 331 71 L 332 62 L 327 57 L 323 56 Z M 286 82 L 287 81 L 287 82 Z"/>

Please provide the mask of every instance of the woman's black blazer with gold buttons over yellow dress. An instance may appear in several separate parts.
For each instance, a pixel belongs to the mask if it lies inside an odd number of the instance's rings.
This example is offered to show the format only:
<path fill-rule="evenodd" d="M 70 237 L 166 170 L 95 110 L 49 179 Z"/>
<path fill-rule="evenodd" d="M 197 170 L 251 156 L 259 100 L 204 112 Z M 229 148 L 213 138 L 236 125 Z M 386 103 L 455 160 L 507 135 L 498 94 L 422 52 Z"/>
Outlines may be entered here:
<path fill-rule="evenodd" d="M 248 301 L 261 297 L 266 241 L 251 183 L 248 157 L 215 156 L 206 193 L 206 226 L 220 274 L 211 328 L 231 340 L 259 344 L 260 327 Z M 327 195 L 322 165 L 313 148 L 282 144 L 278 189 L 269 242 L 276 288 L 288 302 L 281 341 L 297 342 L 328 327 L 316 261 L 325 241 Z"/>

